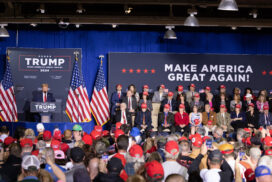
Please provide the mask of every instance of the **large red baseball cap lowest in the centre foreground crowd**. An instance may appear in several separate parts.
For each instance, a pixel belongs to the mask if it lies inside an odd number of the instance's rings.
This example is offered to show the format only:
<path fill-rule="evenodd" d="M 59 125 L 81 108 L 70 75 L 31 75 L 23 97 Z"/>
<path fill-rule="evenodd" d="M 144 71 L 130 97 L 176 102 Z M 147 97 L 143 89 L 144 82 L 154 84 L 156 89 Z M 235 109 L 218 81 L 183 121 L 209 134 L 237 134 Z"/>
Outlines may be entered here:
<path fill-rule="evenodd" d="M 145 163 L 145 169 L 147 175 L 152 179 L 163 179 L 164 171 L 162 164 L 154 160 L 151 162 Z"/>

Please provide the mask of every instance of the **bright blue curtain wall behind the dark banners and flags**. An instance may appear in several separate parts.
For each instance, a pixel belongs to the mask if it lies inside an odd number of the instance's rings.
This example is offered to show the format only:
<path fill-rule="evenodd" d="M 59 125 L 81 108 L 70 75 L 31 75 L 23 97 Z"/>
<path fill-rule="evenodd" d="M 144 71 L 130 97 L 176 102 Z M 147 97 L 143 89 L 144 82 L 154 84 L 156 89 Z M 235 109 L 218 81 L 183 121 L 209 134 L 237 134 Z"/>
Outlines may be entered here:
<path fill-rule="evenodd" d="M 16 31 L 0 39 L 0 75 L 6 47 L 16 47 Z M 89 96 L 99 66 L 98 56 L 105 55 L 107 77 L 108 52 L 175 52 L 219 54 L 272 54 L 272 34 L 177 32 L 178 40 L 163 40 L 164 32 L 98 30 L 19 30 L 18 47 L 82 48 L 82 71 Z"/>

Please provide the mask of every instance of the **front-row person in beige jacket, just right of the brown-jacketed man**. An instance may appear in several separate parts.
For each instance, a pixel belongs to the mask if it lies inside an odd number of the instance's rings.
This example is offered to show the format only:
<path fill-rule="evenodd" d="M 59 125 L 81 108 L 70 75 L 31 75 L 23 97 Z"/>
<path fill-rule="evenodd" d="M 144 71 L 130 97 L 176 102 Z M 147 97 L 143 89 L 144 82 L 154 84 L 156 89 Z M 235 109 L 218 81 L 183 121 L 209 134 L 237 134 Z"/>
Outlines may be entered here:
<path fill-rule="evenodd" d="M 225 133 L 232 132 L 234 130 L 230 125 L 230 114 L 227 112 L 227 108 L 225 105 L 220 105 L 220 112 L 216 114 L 216 121 L 217 126 L 222 127 Z"/>

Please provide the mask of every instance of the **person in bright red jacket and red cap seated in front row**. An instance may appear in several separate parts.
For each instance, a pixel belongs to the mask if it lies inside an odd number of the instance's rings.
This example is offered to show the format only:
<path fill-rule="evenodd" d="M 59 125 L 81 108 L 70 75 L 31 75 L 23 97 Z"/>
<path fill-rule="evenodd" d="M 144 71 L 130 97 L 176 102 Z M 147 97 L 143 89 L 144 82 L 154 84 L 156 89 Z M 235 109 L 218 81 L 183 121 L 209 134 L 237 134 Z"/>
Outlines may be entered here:
<path fill-rule="evenodd" d="M 183 133 L 189 133 L 189 115 L 185 112 L 185 106 L 179 105 L 179 112 L 175 114 L 175 126 L 176 131 Z"/>

